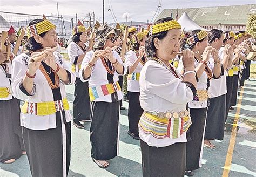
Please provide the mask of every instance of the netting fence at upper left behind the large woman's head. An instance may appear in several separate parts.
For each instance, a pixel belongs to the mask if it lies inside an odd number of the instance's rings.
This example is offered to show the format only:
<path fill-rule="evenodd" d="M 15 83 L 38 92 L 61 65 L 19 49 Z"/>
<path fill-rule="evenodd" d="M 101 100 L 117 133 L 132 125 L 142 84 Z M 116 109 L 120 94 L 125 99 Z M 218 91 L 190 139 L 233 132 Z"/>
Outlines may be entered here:
<path fill-rule="evenodd" d="M 66 36 L 66 28 L 63 17 L 45 16 L 46 19 L 57 26 L 58 36 Z M 0 31 L 8 31 L 12 25 L 18 31 L 20 27 L 26 28 L 33 19 L 42 19 L 43 15 L 32 15 L 25 13 L 12 13 L 0 11 Z"/>

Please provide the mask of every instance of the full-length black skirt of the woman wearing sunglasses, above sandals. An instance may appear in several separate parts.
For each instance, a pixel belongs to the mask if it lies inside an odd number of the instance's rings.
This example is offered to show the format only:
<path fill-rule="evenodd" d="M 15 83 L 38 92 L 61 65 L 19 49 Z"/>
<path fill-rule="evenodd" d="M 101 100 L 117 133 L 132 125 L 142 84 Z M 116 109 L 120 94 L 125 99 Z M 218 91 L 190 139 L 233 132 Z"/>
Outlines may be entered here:
<path fill-rule="evenodd" d="M 119 141 L 120 101 L 114 103 L 91 102 L 91 156 L 96 160 L 109 160 L 117 156 Z"/>

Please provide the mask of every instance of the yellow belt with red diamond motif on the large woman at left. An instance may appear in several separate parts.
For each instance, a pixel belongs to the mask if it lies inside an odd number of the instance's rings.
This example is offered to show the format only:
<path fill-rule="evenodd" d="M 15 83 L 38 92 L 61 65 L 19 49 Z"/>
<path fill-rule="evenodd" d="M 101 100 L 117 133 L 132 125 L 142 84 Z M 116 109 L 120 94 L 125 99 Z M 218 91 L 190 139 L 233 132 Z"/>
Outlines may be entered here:
<path fill-rule="evenodd" d="M 49 101 L 41 103 L 25 102 L 21 112 L 30 115 L 51 115 L 58 111 L 69 110 L 69 103 L 66 98 L 58 101 Z"/>

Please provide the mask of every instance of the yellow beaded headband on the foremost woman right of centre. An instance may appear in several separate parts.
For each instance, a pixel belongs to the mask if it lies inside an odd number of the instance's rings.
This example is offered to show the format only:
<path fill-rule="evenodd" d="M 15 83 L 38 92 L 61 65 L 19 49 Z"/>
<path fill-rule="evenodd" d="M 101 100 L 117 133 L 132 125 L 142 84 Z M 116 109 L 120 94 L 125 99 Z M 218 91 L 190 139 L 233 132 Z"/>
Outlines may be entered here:
<path fill-rule="evenodd" d="M 163 23 L 158 23 L 152 25 L 150 28 L 150 35 L 156 35 L 159 32 L 169 31 L 171 29 L 179 28 L 181 29 L 180 24 L 177 21 L 171 20 Z"/>

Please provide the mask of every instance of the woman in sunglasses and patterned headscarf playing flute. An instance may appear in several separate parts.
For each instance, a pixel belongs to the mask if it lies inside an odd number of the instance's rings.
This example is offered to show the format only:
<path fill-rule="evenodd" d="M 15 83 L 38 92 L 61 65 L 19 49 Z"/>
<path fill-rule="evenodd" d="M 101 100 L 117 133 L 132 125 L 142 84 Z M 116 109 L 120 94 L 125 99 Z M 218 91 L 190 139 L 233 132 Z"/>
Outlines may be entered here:
<path fill-rule="evenodd" d="M 93 51 L 87 52 L 80 79 L 89 79 L 91 100 L 91 156 L 101 168 L 109 166 L 107 160 L 118 155 L 119 112 L 123 93 L 118 84 L 118 76 L 126 73 L 120 56 L 111 50 L 119 30 L 103 24 L 96 31 L 97 43 Z M 100 56 L 99 56 L 100 55 Z"/>

